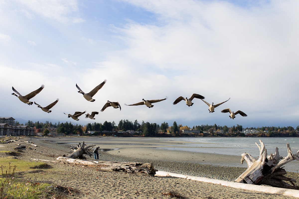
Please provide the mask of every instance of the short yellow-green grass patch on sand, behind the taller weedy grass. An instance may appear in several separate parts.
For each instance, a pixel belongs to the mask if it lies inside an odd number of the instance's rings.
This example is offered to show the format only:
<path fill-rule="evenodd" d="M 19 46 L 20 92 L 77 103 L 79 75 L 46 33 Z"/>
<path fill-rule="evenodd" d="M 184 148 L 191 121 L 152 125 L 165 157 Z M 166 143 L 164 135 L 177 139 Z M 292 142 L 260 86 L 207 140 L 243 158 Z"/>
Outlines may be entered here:
<path fill-rule="evenodd" d="M 26 162 L 19 159 L 12 159 L 11 157 L 0 158 L 0 161 L 4 169 L 8 169 L 10 165 L 16 165 L 17 168 L 15 172 L 30 171 L 36 168 L 48 168 L 48 164 L 42 162 Z"/>

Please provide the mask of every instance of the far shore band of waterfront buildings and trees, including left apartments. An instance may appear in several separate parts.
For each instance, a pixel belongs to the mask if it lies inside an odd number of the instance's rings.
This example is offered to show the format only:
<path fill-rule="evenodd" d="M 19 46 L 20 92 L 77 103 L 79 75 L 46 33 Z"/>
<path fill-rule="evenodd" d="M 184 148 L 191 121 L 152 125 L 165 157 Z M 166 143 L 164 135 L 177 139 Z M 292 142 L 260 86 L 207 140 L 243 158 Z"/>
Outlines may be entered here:
<path fill-rule="evenodd" d="M 23 136 L 235 136 L 235 137 L 299 137 L 299 127 L 250 127 L 243 128 L 237 124 L 237 127 L 201 125 L 193 126 L 193 128 L 177 125 L 173 126 L 168 123 L 162 123 L 161 126 L 157 124 L 150 124 L 142 121 L 140 125 L 137 120 L 130 122 L 128 120 L 121 120 L 118 126 L 115 122 L 105 121 L 101 123 L 88 123 L 84 126 L 73 125 L 70 123 L 52 124 L 49 121 L 45 123 L 26 122 L 25 125 L 19 124 L 13 117 L 0 117 L 0 135 L 23 135 Z"/>

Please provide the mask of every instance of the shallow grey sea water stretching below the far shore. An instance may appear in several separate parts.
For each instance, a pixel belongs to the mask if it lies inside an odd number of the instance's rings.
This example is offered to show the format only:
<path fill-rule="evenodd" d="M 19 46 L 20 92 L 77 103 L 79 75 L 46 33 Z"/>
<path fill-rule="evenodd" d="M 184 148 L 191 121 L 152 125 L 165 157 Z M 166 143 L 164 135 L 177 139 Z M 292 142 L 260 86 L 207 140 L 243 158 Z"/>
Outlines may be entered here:
<path fill-rule="evenodd" d="M 109 137 L 93 137 L 93 138 L 44 138 L 44 140 L 53 141 L 57 144 L 70 145 L 77 144 L 78 142 L 85 141 L 86 144 L 104 144 L 107 146 L 107 141 L 113 143 L 115 140 L 121 140 L 121 145 L 138 145 L 140 141 L 147 141 L 151 146 L 156 146 L 159 149 L 168 150 L 182 150 L 191 152 L 203 152 L 203 153 L 217 153 L 223 155 L 238 155 L 247 152 L 254 157 L 259 156 L 259 149 L 255 142 L 260 145 L 259 139 L 263 141 L 266 146 L 268 155 L 275 153 L 275 148 L 278 147 L 279 154 L 283 157 L 287 155 L 286 143 L 289 143 L 293 153 L 297 153 L 299 150 L 299 138 L 237 138 L 237 137 L 201 137 L 201 138 L 109 138 Z M 173 145 L 169 144 L 173 142 Z M 180 141 L 187 142 L 181 144 Z M 126 143 L 127 142 L 127 143 Z M 167 144 L 164 144 L 167 142 Z M 190 142 L 190 143 L 188 143 Z M 110 144 L 111 149 L 115 148 L 115 144 Z M 109 146 L 109 144 L 108 144 Z M 168 146 L 168 147 L 167 147 Z M 175 148 L 169 146 L 176 146 Z M 110 147 L 106 147 L 110 148 Z"/>

